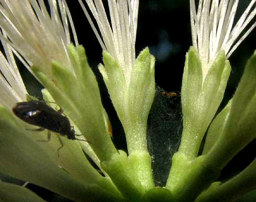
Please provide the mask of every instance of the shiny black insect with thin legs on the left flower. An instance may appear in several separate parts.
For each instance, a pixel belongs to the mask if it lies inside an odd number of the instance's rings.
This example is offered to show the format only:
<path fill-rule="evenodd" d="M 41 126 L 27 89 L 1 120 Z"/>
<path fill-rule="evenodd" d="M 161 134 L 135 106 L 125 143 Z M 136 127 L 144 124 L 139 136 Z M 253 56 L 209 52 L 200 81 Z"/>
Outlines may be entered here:
<path fill-rule="evenodd" d="M 48 129 L 50 131 L 59 133 L 60 135 L 66 136 L 68 139 L 81 140 L 75 137 L 75 132 L 73 127 L 70 125 L 69 119 L 63 116 L 60 111 L 56 111 L 48 106 L 45 101 L 18 102 L 12 111 L 21 120 L 34 126 L 39 126 L 40 128 L 34 129 L 36 131 Z M 51 134 L 48 133 L 48 140 L 46 141 L 50 141 L 50 138 Z M 59 150 L 63 147 L 63 143 L 60 138 L 59 140 L 61 147 L 57 150 L 58 156 Z"/>

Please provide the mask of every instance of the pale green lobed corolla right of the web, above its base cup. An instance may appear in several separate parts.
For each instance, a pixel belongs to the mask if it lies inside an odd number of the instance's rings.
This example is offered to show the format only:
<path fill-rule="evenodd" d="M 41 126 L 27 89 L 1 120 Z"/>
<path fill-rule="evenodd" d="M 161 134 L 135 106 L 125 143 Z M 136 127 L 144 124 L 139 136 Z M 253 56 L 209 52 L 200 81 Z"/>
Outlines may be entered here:
<path fill-rule="evenodd" d="M 206 67 L 201 65 L 198 53 L 192 47 L 183 74 L 183 136 L 179 149 L 191 159 L 196 158 L 201 140 L 223 99 L 231 70 L 224 52 L 211 65 L 204 80 L 203 68 Z"/>

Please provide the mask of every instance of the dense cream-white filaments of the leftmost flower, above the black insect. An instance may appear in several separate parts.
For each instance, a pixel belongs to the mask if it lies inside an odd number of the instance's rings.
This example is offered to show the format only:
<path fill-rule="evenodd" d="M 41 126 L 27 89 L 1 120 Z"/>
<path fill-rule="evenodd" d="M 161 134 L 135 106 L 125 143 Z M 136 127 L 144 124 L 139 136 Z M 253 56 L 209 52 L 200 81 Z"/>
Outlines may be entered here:
<path fill-rule="evenodd" d="M 0 0 L 0 40 L 8 42 L 29 66 L 51 75 L 52 60 L 72 67 L 67 45 L 77 45 L 71 14 L 65 0 Z"/>

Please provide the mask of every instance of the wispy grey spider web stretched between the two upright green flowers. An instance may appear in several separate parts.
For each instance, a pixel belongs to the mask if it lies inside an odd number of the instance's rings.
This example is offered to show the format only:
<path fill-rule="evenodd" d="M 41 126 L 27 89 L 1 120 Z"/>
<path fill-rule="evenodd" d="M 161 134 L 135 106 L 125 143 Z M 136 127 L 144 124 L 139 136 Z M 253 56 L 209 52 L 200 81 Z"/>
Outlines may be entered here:
<path fill-rule="evenodd" d="M 165 186 L 172 157 L 182 133 L 181 96 L 155 87 L 155 99 L 147 121 L 147 146 L 156 186 Z"/>

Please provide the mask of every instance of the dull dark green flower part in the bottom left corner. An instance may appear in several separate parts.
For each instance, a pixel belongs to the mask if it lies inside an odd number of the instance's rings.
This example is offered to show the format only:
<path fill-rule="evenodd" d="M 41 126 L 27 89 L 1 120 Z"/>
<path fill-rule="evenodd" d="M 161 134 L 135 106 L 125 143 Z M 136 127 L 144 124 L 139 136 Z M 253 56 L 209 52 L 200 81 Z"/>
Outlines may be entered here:
<path fill-rule="evenodd" d="M 1 202 L 46 202 L 26 187 L 0 182 Z"/>

